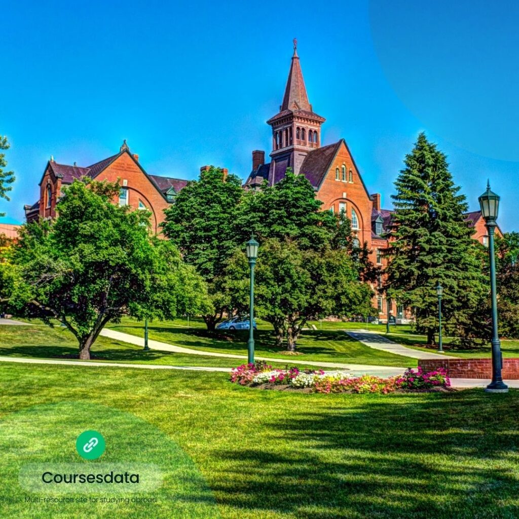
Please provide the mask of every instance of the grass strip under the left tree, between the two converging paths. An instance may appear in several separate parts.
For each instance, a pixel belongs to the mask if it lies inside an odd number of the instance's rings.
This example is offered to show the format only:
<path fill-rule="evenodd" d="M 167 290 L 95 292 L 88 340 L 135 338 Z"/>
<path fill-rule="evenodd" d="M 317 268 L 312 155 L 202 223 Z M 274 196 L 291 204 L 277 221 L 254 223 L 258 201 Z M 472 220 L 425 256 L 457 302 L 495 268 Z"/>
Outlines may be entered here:
<path fill-rule="evenodd" d="M 66 356 L 75 356 L 77 353 L 77 340 L 63 327 L 55 326 L 51 328 L 36 324 L 29 326 L 0 325 L 0 356 L 60 359 L 66 358 Z M 246 361 L 245 359 L 189 355 L 158 350 L 143 351 L 143 347 L 103 336 L 98 337 L 91 353 L 92 360 L 96 362 L 125 362 L 130 364 L 231 368 Z M 285 363 L 273 363 L 272 365 L 284 367 L 286 363 L 290 363 L 290 360 L 290 358 L 287 358 Z"/>

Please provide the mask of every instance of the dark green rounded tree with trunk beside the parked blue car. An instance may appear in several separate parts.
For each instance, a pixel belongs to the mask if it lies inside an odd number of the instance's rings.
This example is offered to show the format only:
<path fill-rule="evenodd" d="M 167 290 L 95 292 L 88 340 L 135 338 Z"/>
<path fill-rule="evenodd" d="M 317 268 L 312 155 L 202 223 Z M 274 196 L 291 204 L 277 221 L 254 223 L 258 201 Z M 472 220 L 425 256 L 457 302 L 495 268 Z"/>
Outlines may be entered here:
<path fill-rule="evenodd" d="M 189 182 L 165 211 L 163 233 L 208 284 L 212 311 L 203 315 L 208 330 L 214 330 L 224 312 L 233 308 L 225 270 L 242 243 L 236 226 L 242 196 L 237 176 L 224 176 L 220 168 L 211 167 Z"/>

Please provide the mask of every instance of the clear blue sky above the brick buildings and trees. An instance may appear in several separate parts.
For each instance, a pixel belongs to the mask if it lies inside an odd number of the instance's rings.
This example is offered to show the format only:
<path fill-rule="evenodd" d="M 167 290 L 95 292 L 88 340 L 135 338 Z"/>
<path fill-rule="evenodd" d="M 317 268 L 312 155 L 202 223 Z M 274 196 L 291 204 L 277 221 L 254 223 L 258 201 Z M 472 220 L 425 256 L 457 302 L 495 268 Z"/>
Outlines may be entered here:
<path fill-rule="evenodd" d="M 519 6 L 512 2 L 8 2 L 0 8 L 0 134 L 17 181 L 11 221 L 46 161 L 86 166 L 123 139 L 152 174 L 241 177 L 270 151 L 292 38 L 323 143 L 344 137 L 371 192 L 419 131 L 477 209 L 487 177 L 517 229 Z"/>

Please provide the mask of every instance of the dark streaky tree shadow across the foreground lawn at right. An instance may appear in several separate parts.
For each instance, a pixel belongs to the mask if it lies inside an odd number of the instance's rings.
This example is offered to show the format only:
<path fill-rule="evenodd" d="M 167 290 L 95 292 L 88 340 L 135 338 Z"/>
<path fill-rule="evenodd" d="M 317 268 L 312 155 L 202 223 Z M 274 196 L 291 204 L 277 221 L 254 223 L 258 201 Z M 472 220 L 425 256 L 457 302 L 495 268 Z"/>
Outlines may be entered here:
<path fill-rule="evenodd" d="M 296 448 L 218 452 L 229 468 L 213 490 L 227 506 L 304 519 L 517 517 L 517 397 L 363 395 L 358 407 L 266 419 Z"/>

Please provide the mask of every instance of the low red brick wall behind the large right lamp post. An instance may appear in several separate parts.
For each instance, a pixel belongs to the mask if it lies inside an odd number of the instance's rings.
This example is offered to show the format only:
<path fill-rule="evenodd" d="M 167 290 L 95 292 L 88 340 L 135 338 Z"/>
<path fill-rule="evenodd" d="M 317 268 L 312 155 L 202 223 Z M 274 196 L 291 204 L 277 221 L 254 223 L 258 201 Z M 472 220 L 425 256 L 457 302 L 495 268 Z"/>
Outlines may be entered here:
<path fill-rule="evenodd" d="M 427 359 L 419 360 L 418 365 L 424 371 L 443 367 L 451 378 L 492 378 L 492 359 Z M 503 359 L 502 376 L 519 380 L 519 359 Z"/>

